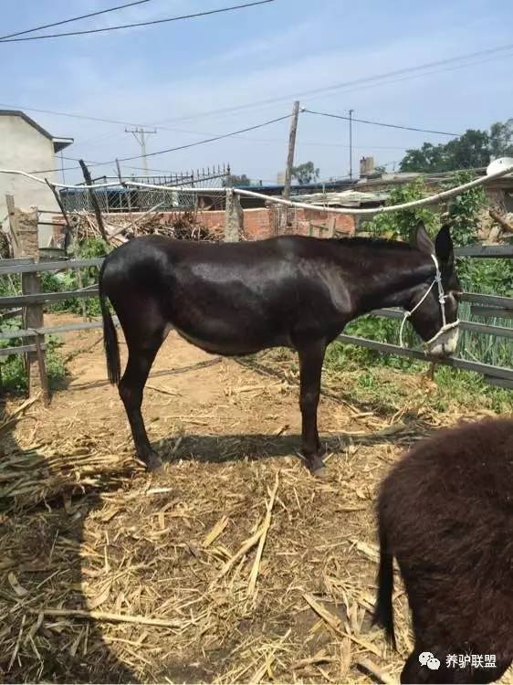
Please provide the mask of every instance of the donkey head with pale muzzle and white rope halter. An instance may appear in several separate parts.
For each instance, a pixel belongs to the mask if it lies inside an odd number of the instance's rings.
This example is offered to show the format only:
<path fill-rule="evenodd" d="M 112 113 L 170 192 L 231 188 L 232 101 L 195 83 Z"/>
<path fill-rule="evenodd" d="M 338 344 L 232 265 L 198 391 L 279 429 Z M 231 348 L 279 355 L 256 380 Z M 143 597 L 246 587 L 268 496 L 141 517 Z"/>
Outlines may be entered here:
<path fill-rule="evenodd" d="M 447 356 L 456 349 L 456 298 L 462 290 L 455 273 L 453 240 L 449 227 L 442 227 L 433 243 L 424 224 L 420 223 L 414 231 L 412 244 L 414 248 L 424 252 L 426 258 L 432 260 L 434 276 L 428 285 L 414 289 L 409 319 L 430 354 Z"/>

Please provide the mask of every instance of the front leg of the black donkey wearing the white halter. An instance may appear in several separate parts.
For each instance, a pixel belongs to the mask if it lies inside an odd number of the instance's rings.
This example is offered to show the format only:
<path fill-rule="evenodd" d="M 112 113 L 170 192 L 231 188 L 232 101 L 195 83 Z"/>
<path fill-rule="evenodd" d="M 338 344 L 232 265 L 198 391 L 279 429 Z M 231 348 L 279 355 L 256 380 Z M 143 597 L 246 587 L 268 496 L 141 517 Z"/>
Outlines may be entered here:
<path fill-rule="evenodd" d="M 315 341 L 298 347 L 299 354 L 299 406 L 302 419 L 302 451 L 307 460 L 310 473 L 322 477 L 326 474 L 326 467 L 322 461 L 322 454 L 317 430 L 317 407 L 320 395 L 320 375 L 326 344 Z"/>

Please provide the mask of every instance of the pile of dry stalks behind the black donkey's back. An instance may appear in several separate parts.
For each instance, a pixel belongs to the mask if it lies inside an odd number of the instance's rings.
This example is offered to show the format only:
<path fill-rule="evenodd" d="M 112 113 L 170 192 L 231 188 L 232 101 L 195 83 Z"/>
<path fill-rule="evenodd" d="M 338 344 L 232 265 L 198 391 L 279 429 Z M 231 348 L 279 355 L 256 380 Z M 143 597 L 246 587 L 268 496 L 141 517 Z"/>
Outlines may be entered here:
<path fill-rule="evenodd" d="M 70 223 L 79 241 L 101 237 L 98 222 L 88 212 L 76 212 L 69 216 Z M 103 217 L 105 231 L 111 245 L 117 247 L 132 237 L 160 235 L 179 240 L 202 240 L 220 242 L 222 227 L 203 226 L 194 212 L 146 212 L 140 215 L 109 215 Z"/>

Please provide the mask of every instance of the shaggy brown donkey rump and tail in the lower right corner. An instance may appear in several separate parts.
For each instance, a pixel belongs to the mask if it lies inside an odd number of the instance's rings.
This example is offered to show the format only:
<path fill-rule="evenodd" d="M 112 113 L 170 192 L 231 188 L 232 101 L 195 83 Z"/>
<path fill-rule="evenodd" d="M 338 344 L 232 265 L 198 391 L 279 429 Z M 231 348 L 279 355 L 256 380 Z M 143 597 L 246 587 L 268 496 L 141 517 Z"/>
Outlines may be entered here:
<path fill-rule="evenodd" d="M 441 430 L 420 443 L 382 483 L 378 516 L 374 622 L 394 643 L 395 557 L 414 625 L 401 681 L 500 678 L 513 659 L 513 419 Z M 439 659 L 439 669 L 421 665 L 422 652 Z M 449 655 L 470 659 L 460 668 L 447 664 Z M 495 668 L 478 665 L 485 655 L 495 656 Z"/>

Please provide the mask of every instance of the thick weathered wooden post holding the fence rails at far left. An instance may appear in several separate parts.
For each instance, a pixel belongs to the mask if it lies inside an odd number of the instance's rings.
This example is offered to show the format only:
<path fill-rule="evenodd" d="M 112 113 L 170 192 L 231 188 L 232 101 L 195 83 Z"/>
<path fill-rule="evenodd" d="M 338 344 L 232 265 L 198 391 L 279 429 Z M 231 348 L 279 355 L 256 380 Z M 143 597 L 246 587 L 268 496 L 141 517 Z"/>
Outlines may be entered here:
<path fill-rule="evenodd" d="M 10 211 L 12 209 L 12 212 Z M 39 261 L 39 242 L 37 234 L 37 208 L 30 212 L 22 212 L 14 206 L 9 208 L 9 224 L 11 233 L 16 236 L 15 257 L 29 257 Z M 22 273 L 21 291 L 23 295 L 34 295 L 41 292 L 41 279 L 37 273 Z M 29 304 L 23 309 L 25 328 L 43 327 L 43 305 Z M 36 352 L 26 354 L 26 375 L 28 378 L 28 395 L 43 393 L 45 404 L 49 401 L 47 368 L 44 352 L 45 336 L 37 334 L 29 338 L 28 343 L 36 345 Z"/>

